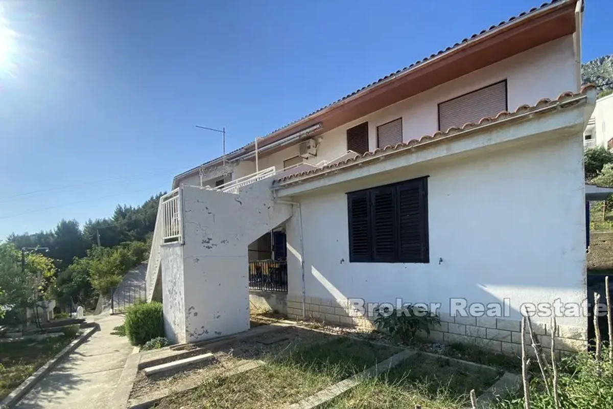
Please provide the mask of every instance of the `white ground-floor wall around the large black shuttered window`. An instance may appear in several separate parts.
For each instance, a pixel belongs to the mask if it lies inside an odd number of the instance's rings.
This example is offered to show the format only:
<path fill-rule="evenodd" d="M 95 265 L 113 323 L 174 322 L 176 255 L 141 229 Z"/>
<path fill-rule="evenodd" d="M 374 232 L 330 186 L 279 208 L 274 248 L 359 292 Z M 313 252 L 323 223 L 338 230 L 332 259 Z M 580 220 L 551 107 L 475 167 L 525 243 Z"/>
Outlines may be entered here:
<path fill-rule="evenodd" d="M 439 159 L 297 196 L 307 296 L 367 302 L 524 302 L 585 299 L 582 138 L 522 143 Z M 350 263 L 346 192 L 429 175 L 430 263 Z M 381 183 L 384 180 L 384 183 Z M 338 185 L 337 185 L 338 186 Z M 286 224 L 289 293 L 302 293 L 297 218 Z M 442 261 L 440 261 L 442 259 Z M 585 326 L 585 318 L 558 318 Z M 535 321 L 539 321 L 535 318 Z M 543 319 L 549 323 L 549 318 Z"/>

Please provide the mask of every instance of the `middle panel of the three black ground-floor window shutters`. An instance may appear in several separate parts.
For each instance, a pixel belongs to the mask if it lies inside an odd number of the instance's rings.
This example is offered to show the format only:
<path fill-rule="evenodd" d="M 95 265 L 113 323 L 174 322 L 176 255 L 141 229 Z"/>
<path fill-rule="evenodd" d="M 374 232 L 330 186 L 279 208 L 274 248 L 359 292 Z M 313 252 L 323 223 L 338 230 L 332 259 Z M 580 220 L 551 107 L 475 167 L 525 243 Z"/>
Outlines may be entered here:
<path fill-rule="evenodd" d="M 394 187 L 375 188 L 370 191 L 371 237 L 373 240 L 373 261 L 394 261 L 397 240 Z"/>

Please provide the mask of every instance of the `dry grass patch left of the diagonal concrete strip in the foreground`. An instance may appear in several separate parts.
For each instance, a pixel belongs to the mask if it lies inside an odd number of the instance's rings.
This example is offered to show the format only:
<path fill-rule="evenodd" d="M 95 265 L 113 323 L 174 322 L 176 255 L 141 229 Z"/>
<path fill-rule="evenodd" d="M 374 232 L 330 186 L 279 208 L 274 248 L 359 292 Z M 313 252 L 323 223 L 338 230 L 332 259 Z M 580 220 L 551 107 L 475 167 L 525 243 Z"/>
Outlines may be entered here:
<path fill-rule="evenodd" d="M 281 407 L 304 399 L 396 353 L 395 348 L 337 338 L 266 357 L 266 365 L 232 377 L 215 377 L 198 389 L 170 396 L 156 408 Z"/>

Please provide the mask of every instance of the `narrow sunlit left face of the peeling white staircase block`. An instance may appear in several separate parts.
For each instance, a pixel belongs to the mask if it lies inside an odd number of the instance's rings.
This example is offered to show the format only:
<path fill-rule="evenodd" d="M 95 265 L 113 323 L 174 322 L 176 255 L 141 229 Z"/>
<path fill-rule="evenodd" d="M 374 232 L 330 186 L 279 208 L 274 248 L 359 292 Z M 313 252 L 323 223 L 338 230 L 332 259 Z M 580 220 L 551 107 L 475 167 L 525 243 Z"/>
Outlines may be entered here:
<path fill-rule="evenodd" d="M 183 246 L 180 243 L 162 245 L 161 259 L 164 331 L 170 342 L 183 343 L 185 342 Z"/>

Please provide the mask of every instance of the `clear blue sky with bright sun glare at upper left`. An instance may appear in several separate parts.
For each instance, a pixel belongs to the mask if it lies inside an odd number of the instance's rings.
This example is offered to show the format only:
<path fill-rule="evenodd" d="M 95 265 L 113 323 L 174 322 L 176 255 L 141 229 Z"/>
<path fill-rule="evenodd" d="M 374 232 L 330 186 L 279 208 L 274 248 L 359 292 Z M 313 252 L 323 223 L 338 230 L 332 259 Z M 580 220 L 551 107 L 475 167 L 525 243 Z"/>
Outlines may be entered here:
<path fill-rule="evenodd" d="M 168 189 L 221 155 L 196 124 L 232 150 L 542 2 L 0 0 L 0 239 Z M 584 61 L 611 15 L 587 1 Z"/>

